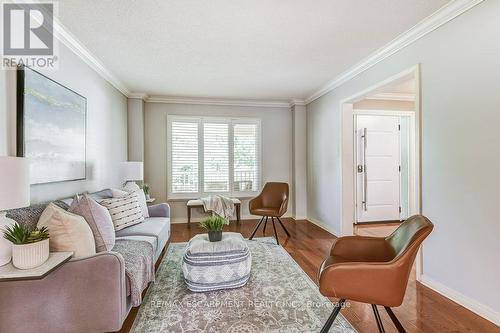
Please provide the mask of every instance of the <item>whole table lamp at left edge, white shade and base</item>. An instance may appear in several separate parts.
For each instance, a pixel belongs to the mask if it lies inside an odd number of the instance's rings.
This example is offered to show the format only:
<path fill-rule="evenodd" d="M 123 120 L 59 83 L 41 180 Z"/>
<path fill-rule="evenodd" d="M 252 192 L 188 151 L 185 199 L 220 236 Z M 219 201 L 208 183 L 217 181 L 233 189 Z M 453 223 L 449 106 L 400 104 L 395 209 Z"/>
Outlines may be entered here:
<path fill-rule="evenodd" d="M 29 205 L 28 160 L 21 157 L 0 156 L 0 266 L 8 264 L 12 257 L 12 243 L 3 237 L 3 231 L 6 226 L 15 223 L 2 211 Z"/>

